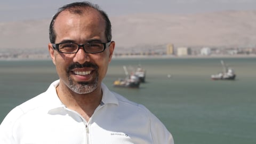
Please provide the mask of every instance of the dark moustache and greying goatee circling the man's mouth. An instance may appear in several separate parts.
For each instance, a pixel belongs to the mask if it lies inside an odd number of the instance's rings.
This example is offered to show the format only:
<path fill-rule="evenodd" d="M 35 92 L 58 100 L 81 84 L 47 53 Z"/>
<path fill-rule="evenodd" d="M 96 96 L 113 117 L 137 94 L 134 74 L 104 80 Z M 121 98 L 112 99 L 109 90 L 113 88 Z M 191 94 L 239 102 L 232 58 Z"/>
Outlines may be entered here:
<path fill-rule="evenodd" d="M 92 81 L 90 82 L 75 82 L 74 79 L 70 77 L 69 71 L 74 68 L 83 68 L 83 67 L 93 67 L 95 68 L 95 76 Z M 93 64 L 93 63 L 84 63 L 83 65 L 79 63 L 74 63 L 68 68 L 68 87 L 71 91 L 78 93 L 78 94 L 86 94 L 86 93 L 91 93 L 95 89 L 97 89 L 98 84 L 99 84 L 99 73 L 98 73 L 98 66 Z"/>

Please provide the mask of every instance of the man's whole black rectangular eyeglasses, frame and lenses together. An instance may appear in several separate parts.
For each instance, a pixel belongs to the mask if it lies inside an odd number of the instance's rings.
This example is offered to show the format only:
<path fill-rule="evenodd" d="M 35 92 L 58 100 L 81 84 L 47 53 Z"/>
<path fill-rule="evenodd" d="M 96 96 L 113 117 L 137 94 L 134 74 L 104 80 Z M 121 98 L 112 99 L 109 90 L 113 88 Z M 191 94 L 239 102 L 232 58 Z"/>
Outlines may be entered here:
<path fill-rule="evenodd" d="M 105 51 L 106 47 L 110 45 L 108 43 L 86 43 L 86 44 L 77 44 L 77 43 L 59 43 L 52 44 L 54 50 L 58 50 L 61 53 L 77 53 L 79 47 L 83 47 L 86 53 L 100 53 Z"/>

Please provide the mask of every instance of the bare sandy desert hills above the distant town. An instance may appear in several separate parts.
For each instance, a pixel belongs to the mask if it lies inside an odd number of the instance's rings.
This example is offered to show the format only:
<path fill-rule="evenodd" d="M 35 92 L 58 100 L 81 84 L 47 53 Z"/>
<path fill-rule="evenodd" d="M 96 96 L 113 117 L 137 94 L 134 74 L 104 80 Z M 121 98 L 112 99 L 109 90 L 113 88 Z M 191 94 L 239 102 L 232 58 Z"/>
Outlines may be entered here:
<path fill-rule="evenodd" d="M 51 19 L 0 23 L 0 49 L 47 48 Z M 110 17 L 117 47 L 255 46 L 256 11 Z"/>

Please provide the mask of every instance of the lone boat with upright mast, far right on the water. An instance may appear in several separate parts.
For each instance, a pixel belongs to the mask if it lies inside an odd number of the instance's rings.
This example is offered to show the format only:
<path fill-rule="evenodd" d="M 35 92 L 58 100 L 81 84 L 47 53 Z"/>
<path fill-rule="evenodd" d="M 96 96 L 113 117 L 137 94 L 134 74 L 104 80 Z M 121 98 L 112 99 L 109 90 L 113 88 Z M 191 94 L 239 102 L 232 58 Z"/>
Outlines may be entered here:
<path fill-rule="evenodd" d="M 228 68 L 225 65 L 223 60 L 221 60 L 221 65 L 222 65 L 223 71 L 221 73 L 211 75 L 211 78 L 213 80 L 235 80 L 236 74 L 234 70 L 231 68 Z"/>

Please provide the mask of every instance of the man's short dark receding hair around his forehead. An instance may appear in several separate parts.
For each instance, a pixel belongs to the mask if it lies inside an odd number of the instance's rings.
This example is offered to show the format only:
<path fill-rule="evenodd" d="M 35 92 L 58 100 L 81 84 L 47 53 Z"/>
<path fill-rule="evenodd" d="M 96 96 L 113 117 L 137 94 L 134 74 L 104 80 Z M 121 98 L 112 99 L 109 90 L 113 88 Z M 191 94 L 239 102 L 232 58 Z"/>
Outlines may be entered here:
<path fill-rule="evenodd" d="M 110 42 L 111 39 L 112 39 L 111 22 L 108 18 L 107 13 L 105 11 L 101 10 L 100 7 L 97 4 L 92 4 L 92 3 L 86 2 L 86 1 L 85 2 L 70 3 L 70 4 L 64 5 L 64 6 L 59 8 L 58 12 L 55 15 L 53 15 L 53 18 L 52 18 L 51 23 L 50 23 L 50 28 L 49 28 L 50 42 L 55 43 L 56 33 L 55 33 L 55 30 L 54 30 L 54 22 L 55 22 L 55 19 L 58 17 L 58 15 L 62 11 L 69 10 L 72 13 L 81 14 L 82 13 L 81 8 L 90 8 L 90 7 L 92 9 L 97 10 L 102 15 L 103 19 L 105 20 L 105 22 L 106 22 L 105 35 L 106 35 L 106 38 L 107 38 L 107 42 Z"/>

